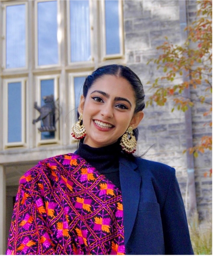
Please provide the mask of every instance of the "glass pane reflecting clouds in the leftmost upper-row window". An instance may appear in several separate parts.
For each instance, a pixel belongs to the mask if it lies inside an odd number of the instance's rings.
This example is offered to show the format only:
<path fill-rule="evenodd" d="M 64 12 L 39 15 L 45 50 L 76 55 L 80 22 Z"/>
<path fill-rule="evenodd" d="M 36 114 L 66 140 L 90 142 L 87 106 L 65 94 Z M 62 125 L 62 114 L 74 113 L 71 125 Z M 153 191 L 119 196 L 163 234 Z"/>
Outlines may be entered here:
<path fill-rule="evenodd" d="M 6 7 L 6 68 L 26 66 L 25 4 Z"/>

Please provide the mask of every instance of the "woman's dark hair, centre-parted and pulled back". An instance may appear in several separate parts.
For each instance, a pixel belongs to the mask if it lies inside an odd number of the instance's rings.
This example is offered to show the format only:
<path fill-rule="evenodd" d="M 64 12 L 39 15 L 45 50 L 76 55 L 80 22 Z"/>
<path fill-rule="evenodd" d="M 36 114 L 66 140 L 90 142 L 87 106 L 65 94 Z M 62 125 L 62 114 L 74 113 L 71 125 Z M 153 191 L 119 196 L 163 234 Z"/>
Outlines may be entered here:
<path fill-rule="evenodd" d="M 141 83 L 141 80 L 139 77 L 133 72 L 130 68 L 123 66 L 123 65 L 106 65 L 102 66 L 100 68 L 97 68 L 92 72 L 91 75 L 88 75 L 85 79 L 85 82 L 83 84 L 83 96 L 86 98 L 88 90 L 94 84 L 94 82 L 104 76 L 104 75 L 114 75 L 118 77 L 125 78 L 131 85 L 132 89 L 135 92 L 135 99 L 136 99 L 136 106 L 135 106 L 135 113 L 141 111 L 145 107 L 144 102 L 144 88 Z M 79 117 L 79 113 L 78 113 Z M 136 140 L 138 139 L 138 129 L 133 130 Z"/>

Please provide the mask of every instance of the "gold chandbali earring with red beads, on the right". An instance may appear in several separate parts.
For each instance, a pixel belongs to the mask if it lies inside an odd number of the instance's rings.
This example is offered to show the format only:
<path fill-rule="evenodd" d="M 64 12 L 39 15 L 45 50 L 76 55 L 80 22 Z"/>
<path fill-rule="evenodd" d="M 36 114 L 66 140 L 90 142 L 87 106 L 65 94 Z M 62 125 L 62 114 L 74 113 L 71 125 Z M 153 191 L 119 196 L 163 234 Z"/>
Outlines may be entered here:
<path fill-rule="evenodd" d="M 128 154 L 134 153 L 137 149 L 137 141 L 132 130 L 132 126 L 126 130 L 125 134 L 121 137 L 121 148 Z"/>

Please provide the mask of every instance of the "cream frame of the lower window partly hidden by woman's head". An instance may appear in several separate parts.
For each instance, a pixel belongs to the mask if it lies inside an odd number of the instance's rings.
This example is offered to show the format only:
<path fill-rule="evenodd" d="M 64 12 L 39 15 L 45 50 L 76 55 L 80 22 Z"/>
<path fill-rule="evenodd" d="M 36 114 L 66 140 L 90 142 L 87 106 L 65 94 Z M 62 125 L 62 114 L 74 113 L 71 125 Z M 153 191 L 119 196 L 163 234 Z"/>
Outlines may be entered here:
<path fill-rule="evenodd" d="M 75 73 L 70 73 L 69 76 L 69 90 L 68 90 L 68 94 L 69 94 L 69 109 L 70 111 L 72 111 L 72 116 L 71 116 L 71 120 L 70 120 L 70 140 L 71 143 L 76 143 L 76 139 L 74 137 L 72 137 L 71 135 L 71 128 L 73 127 L 73 125 L 76 123 L 76 113 L 77 113 L 77 109 L 75 109 L 75 84 L 74 84 L 74 78 L 75 77 L 87 77 L 88 75 L 91 74 L 92 71 L 85 71 L 85 72 L 75 72 Z M 75 112 L 74 112 L 75 111 Z"/>

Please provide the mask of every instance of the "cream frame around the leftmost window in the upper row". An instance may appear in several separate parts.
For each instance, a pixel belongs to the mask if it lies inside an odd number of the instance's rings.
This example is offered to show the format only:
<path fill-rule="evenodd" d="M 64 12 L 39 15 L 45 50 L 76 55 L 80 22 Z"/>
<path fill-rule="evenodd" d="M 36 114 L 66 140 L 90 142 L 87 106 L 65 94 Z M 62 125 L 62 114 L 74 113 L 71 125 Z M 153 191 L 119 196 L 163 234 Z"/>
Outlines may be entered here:
<path fill-rule="evenodd" d="M 26 46 L 25 46 L 25 67 L 21 67 L 21 68 L 7 68 L 7 63 L 6 63 L 6 8 L 7 6 L 15 6 L 15 5 L 21 5 L 21 4 L 25 4 L 25 42 L 26 42 Z M 3 2 L 3 69 L 7 70 L 8 72 L 14 72 L 14 70 L 26 70 L 28 68 L 28 3 L 27 1 L 9 1 L 9 2 Z"/>

